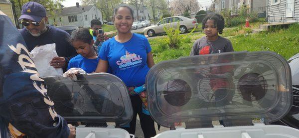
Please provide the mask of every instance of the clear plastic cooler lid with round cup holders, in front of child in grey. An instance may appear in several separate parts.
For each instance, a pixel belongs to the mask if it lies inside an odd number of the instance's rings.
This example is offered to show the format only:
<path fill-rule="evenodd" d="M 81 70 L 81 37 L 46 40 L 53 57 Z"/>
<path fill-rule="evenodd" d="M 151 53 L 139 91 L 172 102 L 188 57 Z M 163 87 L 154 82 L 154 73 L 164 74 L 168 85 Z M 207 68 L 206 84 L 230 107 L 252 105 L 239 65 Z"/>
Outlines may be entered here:
<path fill-rule="evenodd" d="M 292 106 L 291 70 L 274 52 L 227 52 L 163 61 L 146 78 L 149 112 L 164 127 L 216 120 L 272 122 Z"/>

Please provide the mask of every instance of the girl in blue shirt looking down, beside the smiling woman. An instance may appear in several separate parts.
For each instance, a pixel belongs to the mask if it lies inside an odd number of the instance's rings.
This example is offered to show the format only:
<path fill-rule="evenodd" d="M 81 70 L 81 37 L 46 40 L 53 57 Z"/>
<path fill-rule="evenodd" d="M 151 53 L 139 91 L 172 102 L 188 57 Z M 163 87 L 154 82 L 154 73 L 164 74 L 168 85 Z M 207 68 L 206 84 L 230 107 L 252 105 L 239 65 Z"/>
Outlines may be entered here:
<path fill-rule="evenodd" d="M 94 40 L 89 33 L 89 29 L 74 30 L 70 42 L 78 55 L 69 61 L 67 69 L 82 68 L 86 73 L 94 72 L 97 68 L 99 57 L 93 48 Z"/>

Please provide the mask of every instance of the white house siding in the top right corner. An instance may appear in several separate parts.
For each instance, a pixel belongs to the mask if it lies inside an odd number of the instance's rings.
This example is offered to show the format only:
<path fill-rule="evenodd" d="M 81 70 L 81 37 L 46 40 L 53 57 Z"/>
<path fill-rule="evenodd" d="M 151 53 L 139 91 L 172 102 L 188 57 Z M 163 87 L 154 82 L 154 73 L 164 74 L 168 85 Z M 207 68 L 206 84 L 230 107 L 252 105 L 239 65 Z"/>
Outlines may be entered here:
<path fill-rule="evenodd" d="M 267 16 L 269 22 L 298 22 L 299 21 L 299 0 L 295 0 L 294 16 L 286 17 L 286 0 L 280 0 L 279 4 L 273 5 L 268 0 Z"/>

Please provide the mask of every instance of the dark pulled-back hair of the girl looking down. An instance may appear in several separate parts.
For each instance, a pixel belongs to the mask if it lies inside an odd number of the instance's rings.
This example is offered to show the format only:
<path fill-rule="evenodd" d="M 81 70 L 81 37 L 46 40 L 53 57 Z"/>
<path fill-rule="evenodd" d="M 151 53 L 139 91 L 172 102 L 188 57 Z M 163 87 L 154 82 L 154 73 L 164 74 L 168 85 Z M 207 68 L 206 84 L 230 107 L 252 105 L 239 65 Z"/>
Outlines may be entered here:
<path fill-rule="evenodd" d="M 78 41 L 78 40 L 84 43 L 89 43 L 89 44 L 91 43 L 91 40 L 93 40 L 93 38 L 88 28 L 73 30 L 69 42 L 72 43 L 73 41 Z"/>

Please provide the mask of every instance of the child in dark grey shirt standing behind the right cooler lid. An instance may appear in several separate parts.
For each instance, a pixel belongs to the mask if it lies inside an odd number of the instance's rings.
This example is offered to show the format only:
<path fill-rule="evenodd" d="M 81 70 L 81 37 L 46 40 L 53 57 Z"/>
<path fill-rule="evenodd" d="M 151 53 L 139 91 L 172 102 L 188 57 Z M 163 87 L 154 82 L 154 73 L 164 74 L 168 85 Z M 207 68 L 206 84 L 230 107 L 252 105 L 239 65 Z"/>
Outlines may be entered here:
<path fill-rule="evenodd" d="M 196 40 L 190 52 L 190 56 L 213 54 L 234 51 L 230 40 L 218 35 L 222 34 L 224 28 L 224 18 L 219 14 L 209 14 L 202 21 L 202 29 L 206 36 Z M 217 58 L 215 61 L 223 63 L 229 61 L 230 56 L 226 58 Z M 206 74 L 210 80 L 211 91 L 214 92 L 216 107 L 230 104 L 233 97 L 232 89 L 232 73 L 233 67 L 214 66 L 208 69 L 208 72 L 200 72 Z M 212 97 L 213 98 L 213 97 Z"/>

